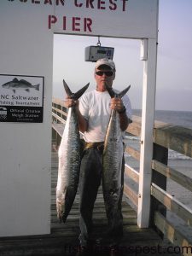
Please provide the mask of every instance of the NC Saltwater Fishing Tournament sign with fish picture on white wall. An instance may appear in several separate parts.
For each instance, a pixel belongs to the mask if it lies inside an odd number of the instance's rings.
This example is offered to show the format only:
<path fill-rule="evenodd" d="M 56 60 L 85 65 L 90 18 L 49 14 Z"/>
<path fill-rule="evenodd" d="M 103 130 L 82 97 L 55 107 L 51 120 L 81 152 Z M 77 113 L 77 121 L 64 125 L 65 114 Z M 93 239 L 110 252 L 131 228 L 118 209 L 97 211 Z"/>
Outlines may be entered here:
<path fill-rule="evenodd" d="M 0 122 L 42 123 L 44 77 L 0 75 Z"/>

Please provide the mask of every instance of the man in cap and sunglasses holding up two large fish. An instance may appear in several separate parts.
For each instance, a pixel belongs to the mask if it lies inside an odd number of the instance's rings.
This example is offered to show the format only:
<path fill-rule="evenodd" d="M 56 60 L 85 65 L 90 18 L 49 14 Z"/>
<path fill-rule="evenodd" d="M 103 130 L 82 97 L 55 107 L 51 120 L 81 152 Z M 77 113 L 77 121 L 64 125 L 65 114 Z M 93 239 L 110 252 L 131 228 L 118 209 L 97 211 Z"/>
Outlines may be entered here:
<path fill-rule="evenodd" d="M 95 79 L 96 90 L 84 93 L 79 101 L 67 98 L 65 105 L 67 108 L 76 106 L 79 119 L 79 131 L 84 133 L 84 153 L 81 160 L 81 170 L 79 177 L 80 196 L 80 246 L 89 246 L 90 234 L 92 231 L 92 212 L 96 195 L 102 179 L 102 149 L 108 128 L 108 121 L 112 109 L 119 113 L 119 124 L 122 131 L 126 130 L 131 123 L 131 103 L 128 96 L 111 98 L 106 90 L 105 84 L 112 87 L 115 79 L 115 64 L 108 59 L 96 61 Z M 123 164 L 124 167 L 124 164 Z M 119 170 L 120 172 L 120 170 Z M 124 183 L 124 168 L 122 170 L 122 185 Z M 123 191 L 122 191 L 123 193 Z M 122 195 L 119 198 L 121 205 Z M 119 207 L 120 216 L 121 207 Z M 119 221 L 118 230 L 110 230 L 115 237 L 122 236 L 123 224 Z M 111 233 L 111 234 L 112 234 Z M 111 236 L 109 234 L 109 236 Z"/>

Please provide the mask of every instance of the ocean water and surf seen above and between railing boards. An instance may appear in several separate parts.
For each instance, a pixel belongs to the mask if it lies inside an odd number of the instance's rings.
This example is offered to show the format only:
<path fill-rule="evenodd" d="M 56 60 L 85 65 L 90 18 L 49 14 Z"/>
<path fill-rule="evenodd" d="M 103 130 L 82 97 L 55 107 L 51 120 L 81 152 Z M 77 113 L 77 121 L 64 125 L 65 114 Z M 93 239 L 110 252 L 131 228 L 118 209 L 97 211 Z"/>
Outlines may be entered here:
<path fill-rule="evenodd" d="M 141 116 L 141 114 L 141 110 L 133 110 L 133 115 Z M 155 120 L 172 125 L 181 125 L 192 130 L 192 112 L 157 110 L 155 112 Z M 138 151 L 140 149 L 139 137 L 128 136 L 125 139 L 125 143 L 129 144 L 132 148 L 136 148 Z M 138 160 L 134 160 L 131 155 L 125 154 L 125 162 L 139 172 Z M 187 177 L 192 178 L 192 158 L 169 149 L 168 166 L 176 169 L 178 172 L 182 172 Z M 131 181 L 131 179 L 125 178 L 125 182 L 129 183 L 131 188 L 137 191 L 138 186 L 136 183 Z M 192 192 L 188 189 L 183 188 L 179 184 L 167 178 L 166 191 L 175 199 L 181 201 L 186 207 L 192 209 Z"/>

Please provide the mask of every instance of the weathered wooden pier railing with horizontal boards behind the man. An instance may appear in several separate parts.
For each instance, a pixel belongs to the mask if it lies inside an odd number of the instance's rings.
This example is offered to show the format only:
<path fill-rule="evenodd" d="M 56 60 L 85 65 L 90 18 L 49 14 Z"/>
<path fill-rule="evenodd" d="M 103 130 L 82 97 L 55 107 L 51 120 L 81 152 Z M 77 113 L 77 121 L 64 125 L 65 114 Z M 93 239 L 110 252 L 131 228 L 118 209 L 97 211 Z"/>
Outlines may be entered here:
<path fill-rule="evenodd" d="M 63 124 L 65 123 L 65 119 L 67 119 L 67 108 L 65 108 L 63 102 L 58 99 L 53 99 L 52 105 L 52 127 L 55 131 L 57 143 L 59 143 L 63 131 Z M 126 131 L 128 138 L 129 136 L 135 136 L 139 140 L 141 123 L 140 117 L 133 116 L 133 122 Z M 182 252 L 183 255 L 192 255 L 188 252 L 189 248 L 192 250 L 192 209 L 186 207 L 182 201 L 177 201 L 166 191 L 167 178 L 172 179 L 185 189 L 192 191 L 192 178 L 167 166 L 168 149 L 172 149 L 192 158 L 192 130 L 182 126 L 168 125 L 155 121 L 154 158 L 151 163 L 153 172 L 151 181 L 150 225 L 158 230 L 161 235 L 172 241 L 174 245 L 186 247 Z M 139 150 L 131 148 L 129 143 L 126 145 L 125 154 L 131 155 L 131 157 L 137 161 L 140 160 Z M 131 181 L 138 184 L 139 170 L 129 166 L 129 163 L 125 163 L 125 177 L 128 177 Z M 138 191 L 129 186 L 128 183 L 125 183 L 124 193 L 137 210 L 138 197 L 140 196 L 138 195 Z M 177 218 L 182 219 L 183 225 L 178 226 L 178 224 L 173 224 L 166 218 L 166 210 L 171 211 L 176 214 Z"/>

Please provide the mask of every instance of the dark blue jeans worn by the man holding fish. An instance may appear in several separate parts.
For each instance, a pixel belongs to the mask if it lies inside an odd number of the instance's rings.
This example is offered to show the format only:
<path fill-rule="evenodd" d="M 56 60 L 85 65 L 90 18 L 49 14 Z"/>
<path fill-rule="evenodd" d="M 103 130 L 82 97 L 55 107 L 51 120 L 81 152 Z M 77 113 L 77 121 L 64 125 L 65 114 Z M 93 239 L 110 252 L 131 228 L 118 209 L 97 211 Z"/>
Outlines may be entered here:
<path fill-rule="evenodd" d="M 124 166 L 125 161 L 122 163 L 122 175 L 121 184 L 122 190 L 119 197 L 119 209 L 118 209 L 118 226 L 115 230 L 112 230 L 110 223 L 112 221 L 108 219 L 108 230 L 112 239 L 118 241 L 118 237 L 123 234 L 123 216 L 121 213 L 121 201 L 123 196 L 123 184 L 124 184 Z M 80 236 L 79 241 L 81 246 L 86 247 L 89 241 L 90 234 L 92 232 L 92 212 L 96 201 L 96 195 L 102 179 L 102 152 L 97 148 L 88 148 L 84 150 L 84 154 L 81 160 L 80 177 L 79 177 L 79 196 L 80 196 Z M 112 209 L 113 210 L 113 209 Z"/>

